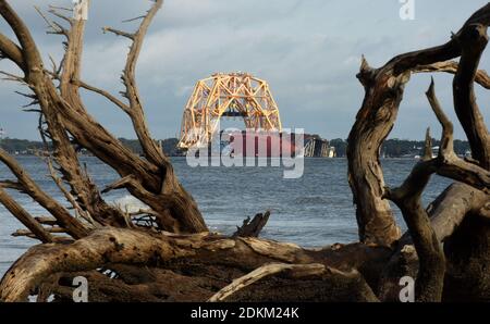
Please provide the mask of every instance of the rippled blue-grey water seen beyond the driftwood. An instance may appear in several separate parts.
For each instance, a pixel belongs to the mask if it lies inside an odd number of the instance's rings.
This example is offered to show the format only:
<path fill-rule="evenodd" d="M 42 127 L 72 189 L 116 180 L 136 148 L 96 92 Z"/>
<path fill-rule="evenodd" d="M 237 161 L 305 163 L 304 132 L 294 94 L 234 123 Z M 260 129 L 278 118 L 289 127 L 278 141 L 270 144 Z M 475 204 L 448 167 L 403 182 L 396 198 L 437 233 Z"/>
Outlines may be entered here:
<path fill-rule="evenodd" d="M 17 159 L 38 184 L 50 195 L 60 197 L 47 176 L 44 163 L 35 157 Z M 102 188 L 117 175 L 96 158 L 82 158 L 93 178 Z M 412 170 L 415 160 L 387 159 L 382 161 L 389 185 L 399 185 Z M 284 179 L 280 167 L 189 167 L 185 158 L 174 158 L 175 171 L 195 199 L 211 230 L 232 234 L 246 216 L 271 211 L 271 219 L 262 236 L 315 247 L 357 239 L 352 194 L 347 184 L 347 163 L 344 159 L 305 159 L 304 176 Z M 0 165 L 0 179 L 11 178 Z M 425 200 L 436 198 L 449 180 L 433 177 Z M 47 215 L 27 196 L 11 191 L 33 215 Z M 134 203 L 127 192 L 120 190 L 105 196 L 108 201 Z M 399 224 L 400 214 L 396 211 Z M 37 241 L 14 238 L 10 234 L 23 228 L 0 205 L 0 275 L 28 247 Z"/>

